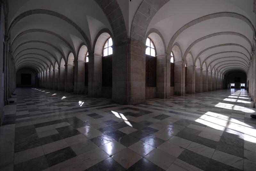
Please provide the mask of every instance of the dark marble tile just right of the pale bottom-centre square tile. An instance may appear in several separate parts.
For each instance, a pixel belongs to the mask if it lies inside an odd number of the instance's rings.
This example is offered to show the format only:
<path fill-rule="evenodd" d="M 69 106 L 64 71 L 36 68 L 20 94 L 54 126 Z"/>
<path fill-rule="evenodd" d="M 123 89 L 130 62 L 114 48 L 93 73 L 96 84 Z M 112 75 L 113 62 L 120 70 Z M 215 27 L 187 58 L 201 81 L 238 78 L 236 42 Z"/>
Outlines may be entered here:
<path fill-rule="evenodd" d="M 195 167 L 205 170 L 208 167 L 210 158 L 204 157 L 203 155 L 197 154 L 196 152 L 185 149 L 178 157 L 178 159 L 185 161 Z"/>

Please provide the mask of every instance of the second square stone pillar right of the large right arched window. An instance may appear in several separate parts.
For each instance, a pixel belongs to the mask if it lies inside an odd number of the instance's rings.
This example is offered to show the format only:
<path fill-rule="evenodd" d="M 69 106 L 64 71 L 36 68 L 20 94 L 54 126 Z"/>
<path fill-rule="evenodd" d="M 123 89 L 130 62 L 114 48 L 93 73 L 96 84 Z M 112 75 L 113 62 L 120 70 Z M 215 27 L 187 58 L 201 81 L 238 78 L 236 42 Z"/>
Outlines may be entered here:
<path fill-rule="evenodd" d="M 176 95 L 185 94 L 185 62 L 184 61 L 174 61 L 174 93 Z"/>

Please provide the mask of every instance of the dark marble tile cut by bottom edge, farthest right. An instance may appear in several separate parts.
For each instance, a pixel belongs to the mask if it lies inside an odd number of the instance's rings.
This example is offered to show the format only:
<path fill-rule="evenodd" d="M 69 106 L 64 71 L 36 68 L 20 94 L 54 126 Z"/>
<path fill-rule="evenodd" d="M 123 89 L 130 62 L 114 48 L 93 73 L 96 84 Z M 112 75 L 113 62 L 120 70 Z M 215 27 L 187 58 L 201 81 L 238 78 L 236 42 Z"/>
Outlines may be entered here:
<path fill-rule="evenodd" d="M 205 171 L 241 171 L 238 168 L 226 165 L 224 163 L 221 163 L 219 161 L 211 159 L 208 166 L 206 167 Z"/>

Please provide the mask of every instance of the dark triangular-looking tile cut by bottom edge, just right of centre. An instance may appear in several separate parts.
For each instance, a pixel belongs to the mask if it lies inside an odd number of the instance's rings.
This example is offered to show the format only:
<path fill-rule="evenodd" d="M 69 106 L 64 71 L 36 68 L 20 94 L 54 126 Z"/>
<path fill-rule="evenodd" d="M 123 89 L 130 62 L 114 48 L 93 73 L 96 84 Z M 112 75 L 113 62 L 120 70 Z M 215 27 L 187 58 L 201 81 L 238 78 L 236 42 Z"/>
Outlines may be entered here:
<path fill-rule="evenodd" d="M 128 171 L 164 171 L 161 167 L 158 167 L 154 163 L 148 161 L 145 158 L 140 159 L 131 167 L 128 168 Z"/>

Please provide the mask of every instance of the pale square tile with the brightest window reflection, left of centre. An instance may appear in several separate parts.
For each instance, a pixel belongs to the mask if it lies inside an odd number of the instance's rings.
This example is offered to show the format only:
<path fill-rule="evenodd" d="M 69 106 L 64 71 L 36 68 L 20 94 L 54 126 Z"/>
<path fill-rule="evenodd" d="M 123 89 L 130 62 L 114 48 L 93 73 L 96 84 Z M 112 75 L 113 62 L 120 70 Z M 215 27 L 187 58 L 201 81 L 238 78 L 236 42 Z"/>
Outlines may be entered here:
<path fill-rule="evenodd" d="M 109 156 L 126 148 L 124 145 L 118 143 L 116 140 L 111 141 L 107 144 L 101 145 L 100 148 L 106 152 Z"/>

